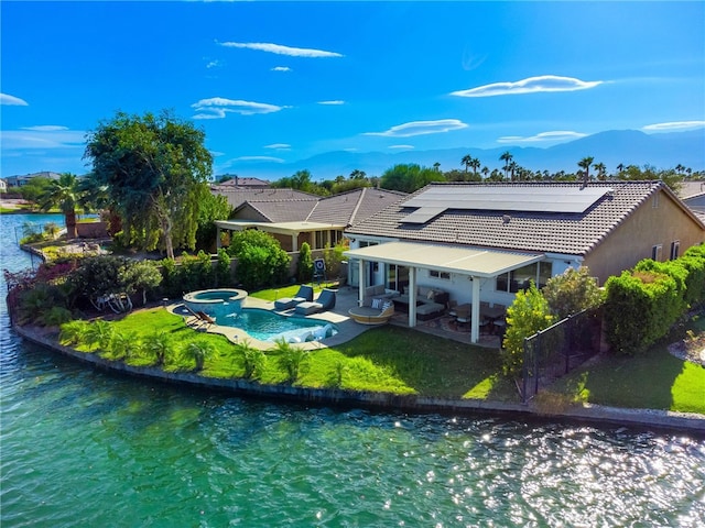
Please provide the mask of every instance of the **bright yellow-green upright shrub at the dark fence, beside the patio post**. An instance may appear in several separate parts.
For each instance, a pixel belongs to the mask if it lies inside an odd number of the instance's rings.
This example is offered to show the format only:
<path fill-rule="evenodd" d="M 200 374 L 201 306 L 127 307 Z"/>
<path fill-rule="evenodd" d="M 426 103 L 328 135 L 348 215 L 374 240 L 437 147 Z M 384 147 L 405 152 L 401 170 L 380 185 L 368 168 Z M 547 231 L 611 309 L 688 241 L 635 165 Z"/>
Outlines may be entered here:
<path fill-rule="evenodd" d="M 507 332 L 505 333 L 502 369 L 507 375 L 518 375 L 524 360 L 524 339 L 549 328 L 555 321 L 549 302 L 534 282 L 527 290 L 519 290 L 514 301 L 507 308 Z"/>

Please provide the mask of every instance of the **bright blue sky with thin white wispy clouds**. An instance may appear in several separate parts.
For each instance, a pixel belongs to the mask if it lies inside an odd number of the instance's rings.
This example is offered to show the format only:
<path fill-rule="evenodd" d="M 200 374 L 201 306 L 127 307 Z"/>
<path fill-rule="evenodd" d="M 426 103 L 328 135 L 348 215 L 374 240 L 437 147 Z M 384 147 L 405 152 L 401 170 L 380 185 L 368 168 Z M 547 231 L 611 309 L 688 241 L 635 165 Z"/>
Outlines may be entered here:
<path fill-rule="evenodd" d="M 1 174 L 171 109 L 214 173 L 705 127 L 705 2 L 2 1 Z M 458 167 L 459 168 L 459 167 Z"/>

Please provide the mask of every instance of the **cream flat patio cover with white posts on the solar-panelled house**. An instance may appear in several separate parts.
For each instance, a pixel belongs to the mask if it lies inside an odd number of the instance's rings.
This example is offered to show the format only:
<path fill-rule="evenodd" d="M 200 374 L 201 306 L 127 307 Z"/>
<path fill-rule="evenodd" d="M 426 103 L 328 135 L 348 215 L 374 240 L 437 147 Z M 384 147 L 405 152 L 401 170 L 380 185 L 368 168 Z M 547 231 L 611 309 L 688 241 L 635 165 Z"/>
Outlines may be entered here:
<path fill-rule="evenodd" d="M 367 262 L 406 266 L 409 268 L 409 327 L 416 326 L 416 282 L 419 270 L 434 270 L 466 276 L 473 283 L 470 342 L 479 341 L 480 329 L 480 280 L 495 278 L 503 273 L 519 270 L 544 258 L 543 254 L 460 248 L 421 242 L 387 242 L 345 252 L 356 258 L 359 276 L 364 277 Z M 359 299 L 366 285 L 360 279 Z"/>

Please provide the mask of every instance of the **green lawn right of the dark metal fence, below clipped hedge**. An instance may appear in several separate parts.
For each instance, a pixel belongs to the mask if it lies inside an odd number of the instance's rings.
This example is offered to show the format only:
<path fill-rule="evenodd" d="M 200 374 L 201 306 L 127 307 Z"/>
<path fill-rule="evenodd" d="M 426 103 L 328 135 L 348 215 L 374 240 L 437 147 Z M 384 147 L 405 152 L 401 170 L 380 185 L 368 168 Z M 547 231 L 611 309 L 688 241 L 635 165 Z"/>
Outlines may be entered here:
<path fill-rule="evenodd" d="M 705 318 L 688 328 L 705 331 Z M 573 371 L 550 391 L 597 405 L 705 414 L 705 367 L 679 360 L 666 344 L 633 358 L 608 355 Z"/>

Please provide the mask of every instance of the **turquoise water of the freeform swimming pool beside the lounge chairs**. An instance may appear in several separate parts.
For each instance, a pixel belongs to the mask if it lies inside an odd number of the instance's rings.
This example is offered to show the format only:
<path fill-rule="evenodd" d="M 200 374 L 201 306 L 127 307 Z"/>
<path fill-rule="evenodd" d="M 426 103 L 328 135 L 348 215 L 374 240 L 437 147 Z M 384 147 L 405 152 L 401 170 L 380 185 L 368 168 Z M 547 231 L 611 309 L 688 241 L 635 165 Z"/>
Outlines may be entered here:
<path fill-rule="evenodd" d="M 227 305 L 224 308 L 227 308 Z M 290 343 L 303 343 L 319 341 L 338 333 L 337 328 L 326 321 L 280 316 L 257 308 L 242 308 L 236 311 L 229 310 L 228 314 L 218 314 L 216 315 L 216 323 L 239 328 L 260 341 L 275 341 L 283 338 Z"/>

